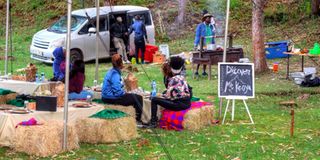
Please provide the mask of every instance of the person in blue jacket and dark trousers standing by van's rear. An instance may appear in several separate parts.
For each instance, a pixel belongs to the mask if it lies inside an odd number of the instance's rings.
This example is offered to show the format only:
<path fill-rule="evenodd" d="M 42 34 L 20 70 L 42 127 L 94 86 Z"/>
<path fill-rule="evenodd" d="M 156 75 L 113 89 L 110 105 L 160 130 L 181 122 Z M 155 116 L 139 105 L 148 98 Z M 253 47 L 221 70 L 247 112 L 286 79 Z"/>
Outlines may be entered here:
<path fill-rule="evenodd" d="M 144 64 L 144 53 L 146 51 L 145 40 L 147 43 L 149 43 L 147 30 L 139 15 L 136 15 L 134 19 L 135 21 L 130 27 L 130 34 L 134 32 L 135 57 L 137 60 L 137 64 L 139 64 L 140 62 L 138 59 L 138 55 L 139 50 L 141 50 L 141 63 Z"/>

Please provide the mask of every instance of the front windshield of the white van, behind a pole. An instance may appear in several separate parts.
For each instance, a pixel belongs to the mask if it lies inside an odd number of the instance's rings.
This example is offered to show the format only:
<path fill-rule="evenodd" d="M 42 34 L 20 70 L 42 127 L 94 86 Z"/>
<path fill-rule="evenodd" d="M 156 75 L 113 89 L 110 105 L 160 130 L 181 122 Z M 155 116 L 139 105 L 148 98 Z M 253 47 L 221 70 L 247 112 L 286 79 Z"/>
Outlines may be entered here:
<path fill-rule="evenodd" d="M 71 16 L 71 31 L 77 30 L 85 21 L 86 17 Z M 48 28 L 49 32 L 66 33 L 67 32 L 67 16 L 61 17 L 57 22 Z"/>

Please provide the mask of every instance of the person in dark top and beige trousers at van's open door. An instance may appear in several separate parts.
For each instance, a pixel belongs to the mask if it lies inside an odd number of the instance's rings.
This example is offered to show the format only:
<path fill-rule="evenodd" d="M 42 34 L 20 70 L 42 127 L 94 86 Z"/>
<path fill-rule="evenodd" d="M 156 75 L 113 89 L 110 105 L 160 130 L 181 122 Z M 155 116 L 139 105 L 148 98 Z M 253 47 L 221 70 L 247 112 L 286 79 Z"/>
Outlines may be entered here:
<path fill-rule="evenodd" d="M 113 44 L 117 48 L 117 53 L 122 56 L 124 63 L 130 63 L 127 57 L 126 45 L 124 44 L 124 37 L 128 35 L 126 26 L 122 23 L 122 18 L 117 17 L 117 22 L 111 25 L 111 37 L 113 37 Z"/>

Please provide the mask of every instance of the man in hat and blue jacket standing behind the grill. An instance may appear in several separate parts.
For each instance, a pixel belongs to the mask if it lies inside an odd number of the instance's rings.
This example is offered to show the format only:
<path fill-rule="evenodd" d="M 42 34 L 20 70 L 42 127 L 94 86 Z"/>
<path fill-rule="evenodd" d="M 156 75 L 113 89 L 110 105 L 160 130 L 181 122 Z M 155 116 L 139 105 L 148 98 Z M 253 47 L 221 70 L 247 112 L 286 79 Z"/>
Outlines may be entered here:
<path fill-rule="evenodd" d="M 194 40 L 194 49 L 197 50 L 198 46 L 200 44 L 200 39 L 201 37 L 208 37 L 208 36 L 214 36 L 214 26 L 211 24 L 211 18 L 213 16 L 211 14 L 205 14 L 202 17 L 202 22 L 200 24 L 198 24 L 197 29 L 196 29 L 196 36 L 195 36 L 195 40 Z M 203 41 L 203 46 L 206 46 L 207 44 L 214 44 L 214 37 L 208 37 L 208 38 L 204 38 Z M 200 65 L 197 66 L 197 71 L 196 71 L 196 75 L 199 75 L 198 70 L 199 70 Z M 206 65 L 203 65 L 203 76 L 208 75 L 206 73 Z"/>

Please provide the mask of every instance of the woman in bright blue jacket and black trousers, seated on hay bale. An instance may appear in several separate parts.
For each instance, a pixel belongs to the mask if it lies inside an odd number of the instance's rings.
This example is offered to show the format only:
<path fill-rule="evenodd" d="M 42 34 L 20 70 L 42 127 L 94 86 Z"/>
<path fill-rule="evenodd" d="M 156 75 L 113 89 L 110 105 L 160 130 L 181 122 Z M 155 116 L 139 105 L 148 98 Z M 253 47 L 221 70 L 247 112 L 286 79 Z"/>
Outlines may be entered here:
<path fill-rule="evenodd" d="M 121 78 L 121 69 L 123 63 L 121 56 L 115 54 L 112 56 L 112 66 L 103 80 L 102 101 L 109 104 L 118 104 L 123 106 L 131 106 L 135 108 L 137 124 L 141 126 L 142 114 L 142 96 L 137 94 L 126 93 L 123 89 Z"/>

